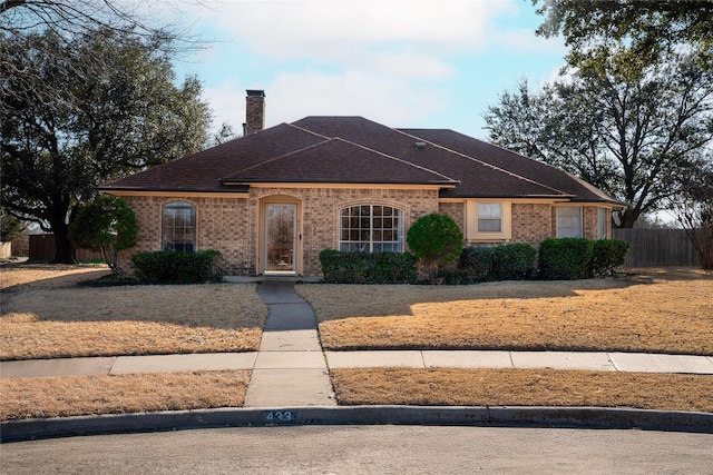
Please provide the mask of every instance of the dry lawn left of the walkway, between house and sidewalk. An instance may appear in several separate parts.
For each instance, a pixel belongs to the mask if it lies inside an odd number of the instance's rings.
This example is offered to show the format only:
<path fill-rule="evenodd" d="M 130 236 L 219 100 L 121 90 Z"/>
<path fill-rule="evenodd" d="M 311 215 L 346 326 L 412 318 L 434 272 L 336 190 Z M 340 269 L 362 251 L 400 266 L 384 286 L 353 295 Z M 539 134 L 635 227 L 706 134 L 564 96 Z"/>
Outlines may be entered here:
<path fill-rule="evenodd" d="M 106 268 L 2 268 L 0 359 L 251 352 L 267 309 L 254 285 L 77 286 Z"/>

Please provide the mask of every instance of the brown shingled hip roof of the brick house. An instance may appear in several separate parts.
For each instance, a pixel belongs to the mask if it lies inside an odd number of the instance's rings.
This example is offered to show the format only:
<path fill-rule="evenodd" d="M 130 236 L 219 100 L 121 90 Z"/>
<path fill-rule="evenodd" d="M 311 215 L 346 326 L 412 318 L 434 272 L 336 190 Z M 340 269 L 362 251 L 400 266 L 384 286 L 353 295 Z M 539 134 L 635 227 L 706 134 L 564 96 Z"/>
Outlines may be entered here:
<path fill-rule="evenodd" d="M 446 129 L 305 117 L 113 181 L 101 190 L 234 191 L 254 182 L 442 185 L 441 197 L 619 204 L 565 171 Z"/>

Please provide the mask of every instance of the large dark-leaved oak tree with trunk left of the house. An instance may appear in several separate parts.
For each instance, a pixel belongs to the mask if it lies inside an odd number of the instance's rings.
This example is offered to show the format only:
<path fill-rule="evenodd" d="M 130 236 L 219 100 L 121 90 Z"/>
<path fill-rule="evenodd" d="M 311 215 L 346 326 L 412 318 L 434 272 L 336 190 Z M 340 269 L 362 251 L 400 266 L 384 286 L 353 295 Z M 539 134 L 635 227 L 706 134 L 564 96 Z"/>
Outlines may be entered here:
<path fill-rule="evenodd" d="M 53 232 L 55 261 L 71 263 L 77 205 L 101 182 L 201 149 L 209 111 L 196 78 L 176 85 L 165 37 L 99 29 L 22 39 L 0 37 L 2 207 Z"/>

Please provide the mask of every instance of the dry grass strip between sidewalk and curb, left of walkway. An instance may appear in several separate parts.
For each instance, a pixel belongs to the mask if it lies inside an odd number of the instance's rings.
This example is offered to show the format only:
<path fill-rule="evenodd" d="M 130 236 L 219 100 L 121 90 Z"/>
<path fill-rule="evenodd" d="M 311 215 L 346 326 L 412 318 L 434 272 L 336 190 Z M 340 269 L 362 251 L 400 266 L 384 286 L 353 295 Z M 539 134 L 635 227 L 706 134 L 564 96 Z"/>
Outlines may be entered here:
<path fill-rule="evenodd" d="M 0 379 L 0 420 L 241 407 L 248 370 Z"/>

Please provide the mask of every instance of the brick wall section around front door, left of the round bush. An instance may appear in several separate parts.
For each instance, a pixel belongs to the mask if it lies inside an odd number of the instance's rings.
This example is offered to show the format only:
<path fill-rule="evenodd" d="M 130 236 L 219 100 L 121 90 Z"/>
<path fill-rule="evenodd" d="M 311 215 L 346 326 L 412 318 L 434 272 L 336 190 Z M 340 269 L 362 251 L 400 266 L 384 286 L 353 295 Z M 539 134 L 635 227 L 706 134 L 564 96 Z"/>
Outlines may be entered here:
<path fill-rule="evenodd" d="M 339 246 L 341 208 L 387 205 L 403 209 L 404 237 L 416 219 L 438 211 L 437 190 L 253 188 L 247 199 L 126 197 L 136 214 L 139 230 L 137 246 L 123 253 L 121 265 L 129 268 L 130 254 L 160 250 L 162 208 L 167 202 L 179 200 L 196 207 L 197 249 L 219 250 L 227 275 L 253 275 L 260 251 L 257 237 L 262 200 L 275 196 L 300 204 L 299 232 L 303 238 L 302 270 L 305 276 L 321 275 L 320 253 Z"/>

